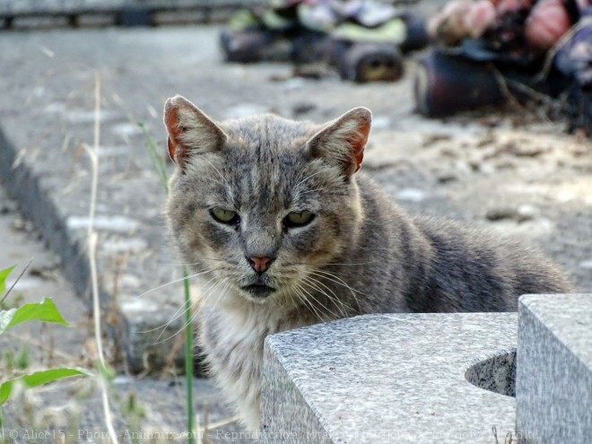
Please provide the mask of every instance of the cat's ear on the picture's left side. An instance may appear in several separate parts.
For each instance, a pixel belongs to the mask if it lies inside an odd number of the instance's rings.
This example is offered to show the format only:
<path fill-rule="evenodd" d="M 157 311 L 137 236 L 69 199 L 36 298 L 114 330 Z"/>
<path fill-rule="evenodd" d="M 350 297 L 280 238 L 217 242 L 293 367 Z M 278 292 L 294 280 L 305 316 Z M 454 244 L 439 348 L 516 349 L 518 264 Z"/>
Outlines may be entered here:
<path fill-rule="evenodd" d="M 183 96 L 164 104 L 170 159 L 183 169 L 190 156 L 219 150 L 227 139 L 220 126 Z"/>

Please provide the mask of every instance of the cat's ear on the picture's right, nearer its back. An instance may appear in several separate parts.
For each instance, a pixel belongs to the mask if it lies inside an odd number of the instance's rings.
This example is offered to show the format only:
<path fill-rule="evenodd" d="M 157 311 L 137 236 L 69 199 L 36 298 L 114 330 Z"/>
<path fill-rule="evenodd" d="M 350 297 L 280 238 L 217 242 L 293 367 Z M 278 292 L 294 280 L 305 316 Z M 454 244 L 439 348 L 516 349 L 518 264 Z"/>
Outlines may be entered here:
<path fill-rule="evenodd" d="M 371 121 L 370 109 L 360 107 L 346 112 L 309 140 L 310 154 L 336 161 L 346 177 L 353 175 L 360 170 Z"/>

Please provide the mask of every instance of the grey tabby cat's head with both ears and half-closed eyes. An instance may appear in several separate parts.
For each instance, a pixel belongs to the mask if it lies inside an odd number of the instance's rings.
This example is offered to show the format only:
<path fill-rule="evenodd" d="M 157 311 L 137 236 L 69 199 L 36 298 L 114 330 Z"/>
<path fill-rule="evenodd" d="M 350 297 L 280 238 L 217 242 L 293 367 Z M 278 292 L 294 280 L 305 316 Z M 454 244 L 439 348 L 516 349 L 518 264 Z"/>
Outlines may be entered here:
<path fill-rule="evenodd" d="M 315 292 L 314 273 L 358 235 L 354 173 L 370 119 L 356 108 L 323 126 L 273 115 L 215 123 L 183 97 L 167 100 L 177 167 L 166 213 L 205 297 L 290 304 Z"/>

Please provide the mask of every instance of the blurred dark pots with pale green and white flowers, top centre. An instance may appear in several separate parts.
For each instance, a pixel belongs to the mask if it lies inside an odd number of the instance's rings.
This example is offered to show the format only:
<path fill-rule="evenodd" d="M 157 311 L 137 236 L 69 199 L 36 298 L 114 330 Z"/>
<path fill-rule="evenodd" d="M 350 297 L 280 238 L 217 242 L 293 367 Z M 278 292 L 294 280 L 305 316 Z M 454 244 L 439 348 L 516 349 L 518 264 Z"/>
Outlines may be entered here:
<path fill-rule="evenodd" d="M 275 0 L 237 13 L 221 36 L 227 61 L 322 64 L 354 82 L 397 80 L 402 52 L 427 43 L 422 20 L 372 0 Z"/>

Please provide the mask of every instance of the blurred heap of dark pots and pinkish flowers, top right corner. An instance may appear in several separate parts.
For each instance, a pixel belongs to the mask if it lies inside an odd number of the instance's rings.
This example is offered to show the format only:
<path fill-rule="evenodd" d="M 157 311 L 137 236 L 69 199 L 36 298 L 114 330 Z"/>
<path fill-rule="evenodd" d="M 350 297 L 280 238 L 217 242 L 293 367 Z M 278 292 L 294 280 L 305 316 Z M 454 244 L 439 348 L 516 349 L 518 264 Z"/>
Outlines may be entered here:
<path fill-rule="evenodd" d="M 550 98 L 592 133 L 592 0 L 454 0 L 427 23 L 433 49 L 415 78 L 426 116 Z"/>

